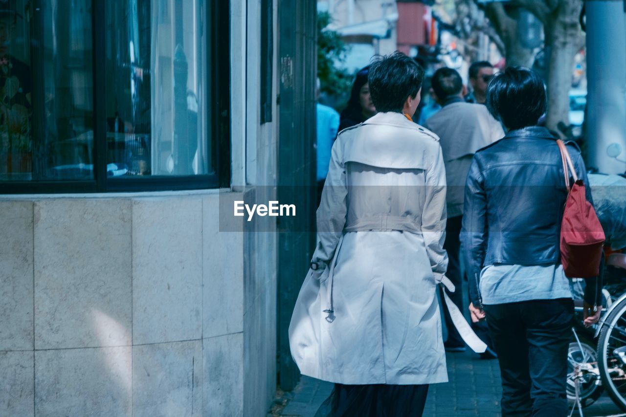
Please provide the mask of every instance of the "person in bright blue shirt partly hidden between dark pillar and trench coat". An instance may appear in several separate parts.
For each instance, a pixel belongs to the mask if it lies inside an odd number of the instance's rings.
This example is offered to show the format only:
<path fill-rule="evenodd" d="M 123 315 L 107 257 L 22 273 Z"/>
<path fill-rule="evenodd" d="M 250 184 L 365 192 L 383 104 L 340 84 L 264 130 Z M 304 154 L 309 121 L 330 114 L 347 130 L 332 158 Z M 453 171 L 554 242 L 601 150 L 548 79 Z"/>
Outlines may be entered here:
<path fill-rule="evenodd" d="M 320 81 L 317 79 L 317 96 L 319 98 Z M 328 175 L 331 162 L 332 143 L 337 138 L 339 129 L 339 113 L 334 108 L 317 103 L 317 203 L 324 188 L 324 180 Z"/>

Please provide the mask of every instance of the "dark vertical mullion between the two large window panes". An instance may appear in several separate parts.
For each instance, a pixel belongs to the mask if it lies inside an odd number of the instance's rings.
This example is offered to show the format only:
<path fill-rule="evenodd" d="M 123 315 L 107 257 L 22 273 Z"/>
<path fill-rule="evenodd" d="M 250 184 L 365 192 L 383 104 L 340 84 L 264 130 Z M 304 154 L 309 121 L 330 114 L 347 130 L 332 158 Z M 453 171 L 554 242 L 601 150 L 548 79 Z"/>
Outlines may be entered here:
<path fill-rule="evenodd" d="M 105 0 L 93 0 L 93 169 L 98 192 L 106 185 L 106 21 Z"/>

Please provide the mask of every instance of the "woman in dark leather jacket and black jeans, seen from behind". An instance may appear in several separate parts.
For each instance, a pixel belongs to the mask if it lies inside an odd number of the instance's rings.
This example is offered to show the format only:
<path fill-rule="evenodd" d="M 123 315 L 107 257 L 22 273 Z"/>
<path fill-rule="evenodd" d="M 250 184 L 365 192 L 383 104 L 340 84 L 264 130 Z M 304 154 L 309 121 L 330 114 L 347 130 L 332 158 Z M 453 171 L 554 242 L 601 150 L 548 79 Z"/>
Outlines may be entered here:
<path fill-rule="evenodd" d="M 559 249 L 567 188 L 555 137 L 536 126 L 546 110 L 543 82 L 508 68 L 490 81 L 486 105 L 508 134 L 476 152 L 466 181 L 469 309 L 473 321 L 486 317 L 498 353 L 503 416 L 567 416 L 573 301 Z M 567 145 L 593 203 L 580 150 Z M 598 320 L 601 297 L 588 285 L 585 324 Z"/>

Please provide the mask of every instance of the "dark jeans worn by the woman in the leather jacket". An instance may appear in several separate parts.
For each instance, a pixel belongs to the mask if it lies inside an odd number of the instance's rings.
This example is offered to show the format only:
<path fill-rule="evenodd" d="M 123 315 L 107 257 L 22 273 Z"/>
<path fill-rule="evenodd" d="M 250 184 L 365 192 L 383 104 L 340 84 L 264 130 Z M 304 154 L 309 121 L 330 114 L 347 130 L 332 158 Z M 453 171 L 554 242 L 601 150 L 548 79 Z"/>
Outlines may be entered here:
<path fill-rule="evenodd" d="M 485 306 L 502 376 L 502 416 L 567 416 L 571 299 Z"/>

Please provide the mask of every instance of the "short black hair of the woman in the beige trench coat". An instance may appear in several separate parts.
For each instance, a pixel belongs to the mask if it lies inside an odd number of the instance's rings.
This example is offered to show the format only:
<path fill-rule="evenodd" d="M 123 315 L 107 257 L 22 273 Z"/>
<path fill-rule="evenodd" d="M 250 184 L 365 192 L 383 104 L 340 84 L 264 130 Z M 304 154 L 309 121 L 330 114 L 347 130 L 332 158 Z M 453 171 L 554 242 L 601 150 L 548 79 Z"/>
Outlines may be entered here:
<path fill-rule="evenodd" d="M 424 80 L 424 69 L 401 52 L 394 52 L 369 66 L 369 92 L 377 111 L 402 113 L 404 101 L 415 98 Z"/>

